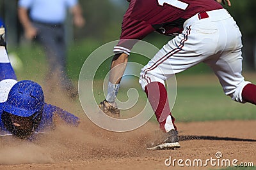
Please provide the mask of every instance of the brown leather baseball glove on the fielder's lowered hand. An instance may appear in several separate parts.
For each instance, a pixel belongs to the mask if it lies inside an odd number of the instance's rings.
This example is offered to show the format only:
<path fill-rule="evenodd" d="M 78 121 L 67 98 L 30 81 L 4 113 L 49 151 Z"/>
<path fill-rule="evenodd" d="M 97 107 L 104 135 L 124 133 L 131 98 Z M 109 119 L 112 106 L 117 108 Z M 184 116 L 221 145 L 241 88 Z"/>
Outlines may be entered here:
<path fill-rule="evenodd" d="M 120 110 L 117 108 L 116 103 L 108 103 L 106 99 L 99 104 L 100 110 L 102 110 L 106 115 L 113 118 L 120 118 Z"/>

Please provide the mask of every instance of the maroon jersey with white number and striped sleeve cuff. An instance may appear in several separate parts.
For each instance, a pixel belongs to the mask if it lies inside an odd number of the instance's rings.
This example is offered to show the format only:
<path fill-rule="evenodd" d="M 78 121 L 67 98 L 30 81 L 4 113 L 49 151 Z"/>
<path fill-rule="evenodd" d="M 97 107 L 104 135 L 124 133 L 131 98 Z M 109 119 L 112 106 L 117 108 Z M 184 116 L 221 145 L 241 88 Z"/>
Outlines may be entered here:
<path fill-rule="evenodd" d="M 154 31 L 165 35 L 180 33 L 184 22 L 196 13 L 221 8 L 221 4 L 214 0 L 131 0 L 114 52 L 129 55 L 136 42 L 124 39 L 143 39 Z"/>

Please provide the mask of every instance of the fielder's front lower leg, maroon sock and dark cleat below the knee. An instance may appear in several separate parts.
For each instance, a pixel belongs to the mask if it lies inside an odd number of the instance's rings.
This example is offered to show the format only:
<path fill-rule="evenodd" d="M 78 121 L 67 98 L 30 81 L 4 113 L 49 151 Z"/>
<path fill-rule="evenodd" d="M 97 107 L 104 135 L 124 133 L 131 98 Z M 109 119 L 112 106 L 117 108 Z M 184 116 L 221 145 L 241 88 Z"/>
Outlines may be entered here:
<path fill-rule="evenodd" d="M 147 150 L 179 148 L 178 131 L 174 124 L 175 118 L 172 116 L 168 103 L 168 94 L 163 83 L 157 81 L 148 83 L 145 87 L 145 92 L 163 132 L 163 134 L 159 132 L 162 135 L 150 145 L 147 145 Z"/>

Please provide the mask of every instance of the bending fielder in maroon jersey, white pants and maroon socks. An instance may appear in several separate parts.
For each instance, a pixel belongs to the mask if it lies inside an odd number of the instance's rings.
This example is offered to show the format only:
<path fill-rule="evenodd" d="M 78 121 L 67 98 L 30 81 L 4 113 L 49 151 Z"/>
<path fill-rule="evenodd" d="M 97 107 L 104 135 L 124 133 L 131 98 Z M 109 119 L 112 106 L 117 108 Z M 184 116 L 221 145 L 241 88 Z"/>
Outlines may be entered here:
<path fill-rule="evenodd" d="M 230 6 L 230 1 L 225 0 Z M 225 3 L 225 1 L 222 1 Z M 99 104 L 106 114 L 119 115 L 115 104 L 120 80 L 136 41 L 151 32 L 175 35 L 141 69 L 140 84 L 155 112 L 164 138 L 148 150 L 179 148 L 164 81 L 204 62 L 214 71 L 227 96 L 239 103 L 256 104 L 256 86 L 244 81 L 241 32 L 221 1 L 214 0 L 131 0 L 122 22 L 122 34 L 114 47 L 108 95 Z M 115 69 L 113 69 L 115 67 Z"/>

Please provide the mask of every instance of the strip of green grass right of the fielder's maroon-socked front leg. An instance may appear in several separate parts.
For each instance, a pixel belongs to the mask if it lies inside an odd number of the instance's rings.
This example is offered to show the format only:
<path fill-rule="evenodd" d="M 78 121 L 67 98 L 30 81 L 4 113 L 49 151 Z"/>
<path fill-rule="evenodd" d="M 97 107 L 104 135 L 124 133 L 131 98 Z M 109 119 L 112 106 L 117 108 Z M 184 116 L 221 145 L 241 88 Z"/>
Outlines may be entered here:
<path fill-rule="evenodd" d="M 182 122 L 248 120 L 256 118 L 252 104 L 240 104 L 223 94 L 221 87 L 178 87 L 173 115 Z"/>

